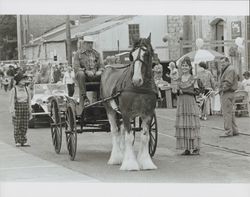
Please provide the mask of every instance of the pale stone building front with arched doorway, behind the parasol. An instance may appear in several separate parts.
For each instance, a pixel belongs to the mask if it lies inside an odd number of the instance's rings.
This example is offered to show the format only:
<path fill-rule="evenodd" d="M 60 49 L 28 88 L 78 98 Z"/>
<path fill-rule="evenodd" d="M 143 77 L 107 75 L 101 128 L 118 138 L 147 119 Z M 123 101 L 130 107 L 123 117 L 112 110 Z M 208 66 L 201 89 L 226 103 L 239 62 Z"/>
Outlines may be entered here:
<path fill-rule="evenodd" d="M 202 38 L 204 48 L 214 49 L 230 57 L 240 75 L 249 70 L 249 17 L 193 16 L 192 21 L 193 40 Z M 235 43 L 238 37 L 244 40 L 243 48 L 238 48 Z"/>

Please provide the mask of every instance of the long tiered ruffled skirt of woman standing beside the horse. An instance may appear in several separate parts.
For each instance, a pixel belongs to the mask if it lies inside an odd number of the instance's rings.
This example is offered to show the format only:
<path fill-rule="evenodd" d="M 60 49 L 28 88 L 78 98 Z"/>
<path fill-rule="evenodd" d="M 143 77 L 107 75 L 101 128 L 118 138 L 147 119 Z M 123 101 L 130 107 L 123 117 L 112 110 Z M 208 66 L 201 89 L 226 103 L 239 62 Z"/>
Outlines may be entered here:
<path fill-rule="evenodd" d="M 177 149 L 200 149 L 199 109 L 194 96 L 185 94 L 179 96 L 175 128 Z"/>

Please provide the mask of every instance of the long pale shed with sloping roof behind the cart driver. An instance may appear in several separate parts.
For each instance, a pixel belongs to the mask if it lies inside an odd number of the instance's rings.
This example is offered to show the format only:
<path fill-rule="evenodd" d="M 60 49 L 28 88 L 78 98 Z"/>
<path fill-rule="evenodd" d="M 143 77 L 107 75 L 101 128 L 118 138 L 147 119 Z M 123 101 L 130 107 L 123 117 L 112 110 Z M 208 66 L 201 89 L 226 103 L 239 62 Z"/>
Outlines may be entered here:
<path fill-rule="evenodd" d="M 101 18 L 101 19 L 100 19 Z M 72 52 L 77 50 L 77 40 L 85 35 L 91 35 L 94 48 L 103 58 L 131 50 L 131 39 L 137 34 L 147 37 L 151 33 L 151 42 L 155 53 L 161 61 L 169 59 L 168 48 L 162 38 L 167 32 L 166 16 L 106 16 L 96 17 L 91 21 L 71 27 Z M 26 59 L 66 61 L 65 25 L 53 28 L 40 37 L 34 38 L 33 43 L 24 46 Z"/>

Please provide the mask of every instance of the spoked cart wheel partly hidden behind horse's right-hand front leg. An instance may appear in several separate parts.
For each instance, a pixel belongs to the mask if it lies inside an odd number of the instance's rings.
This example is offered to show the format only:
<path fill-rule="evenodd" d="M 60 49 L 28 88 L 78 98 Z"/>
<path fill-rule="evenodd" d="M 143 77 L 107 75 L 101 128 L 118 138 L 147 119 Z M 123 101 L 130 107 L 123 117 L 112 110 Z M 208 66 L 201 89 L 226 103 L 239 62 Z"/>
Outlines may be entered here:
<path fill-rule="evenodd" d="M 151 157 L 153 157 L 155 154 L 157 147 L 157 140 L 158 140 L 158 127 L 157 127 L 156 115 L 154 114 L 149 127 L 148 150 Z"/>

